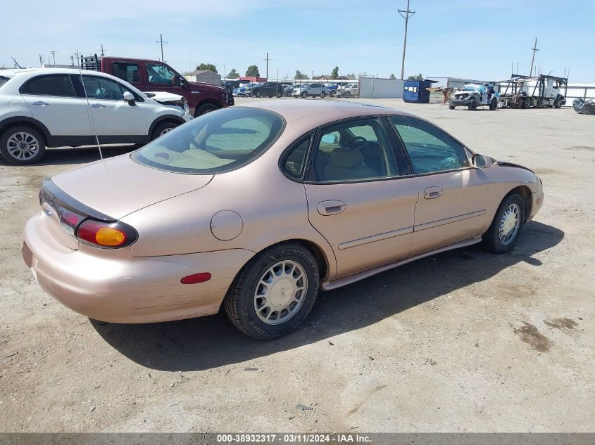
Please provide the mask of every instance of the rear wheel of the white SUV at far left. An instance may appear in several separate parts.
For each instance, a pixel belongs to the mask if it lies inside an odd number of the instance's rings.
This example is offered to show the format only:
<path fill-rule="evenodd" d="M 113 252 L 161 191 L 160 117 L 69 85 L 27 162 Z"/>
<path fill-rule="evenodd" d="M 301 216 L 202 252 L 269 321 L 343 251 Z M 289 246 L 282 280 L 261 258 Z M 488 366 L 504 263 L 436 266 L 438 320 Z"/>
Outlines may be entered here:
<path fill-rule="evenodd" d="M 0 136 L 0 153 L 11 164 L 35 164 L 44 157 L 45 150 L 39 131 L 26 125 L 11 127 Z"/>

